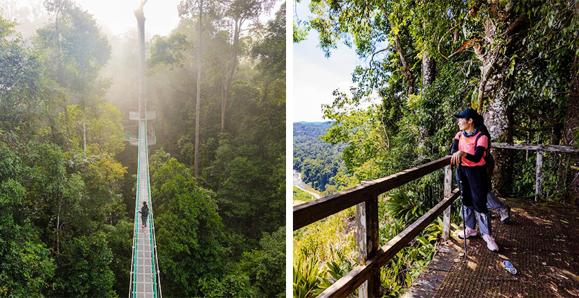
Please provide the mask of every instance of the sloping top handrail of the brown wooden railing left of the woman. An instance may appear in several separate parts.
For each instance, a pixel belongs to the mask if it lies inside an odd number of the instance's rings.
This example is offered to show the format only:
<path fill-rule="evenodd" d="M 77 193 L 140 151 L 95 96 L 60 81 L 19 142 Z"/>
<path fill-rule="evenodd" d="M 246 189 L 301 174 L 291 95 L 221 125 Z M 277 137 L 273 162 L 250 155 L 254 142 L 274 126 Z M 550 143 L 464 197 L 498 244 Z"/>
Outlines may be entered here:
<path fill-rule="evenodd" d="M 443 157 L 422 166 L 416 166 L 393 175 L 371 180 L 346 191 L 294 206 L 294 231 L 362 203 L 371 196 L 380 195 L 414 179 L 428 175 L 449 164 L 450 156 Z"/>

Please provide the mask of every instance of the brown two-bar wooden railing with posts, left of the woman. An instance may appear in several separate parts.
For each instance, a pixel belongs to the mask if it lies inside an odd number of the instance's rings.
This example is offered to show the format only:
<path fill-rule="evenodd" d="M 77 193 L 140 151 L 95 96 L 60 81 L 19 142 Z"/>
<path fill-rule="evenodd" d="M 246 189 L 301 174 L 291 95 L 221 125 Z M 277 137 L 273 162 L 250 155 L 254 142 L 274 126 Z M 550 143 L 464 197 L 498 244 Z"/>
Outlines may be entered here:
<path fill-rule="evenodd" d="M 429 173 L 445 168 L 445 192 L 443 200 L 430 209 L 412 225 L 380 247 L 378 230 L 378 195 L 407 184 Z M 450 156 L 428 164 L 403 170 L 387 177 L 371 180 L 363 185 L 341 191 L 294 207 L 294 231 L 310 225 L 332 214 L 356 206 L 356 241 L 358 243 L 358 265 L 336 281 L 318 297 L 346 297 L 359 288 L 359 297 L 380 295 L 380 268 L 395 254 L 408 245 L 414 237 L 444 211 L 443 237 L 450 231 L 450 205 L 458 198 L 458 189 L 452 189 Z"/>

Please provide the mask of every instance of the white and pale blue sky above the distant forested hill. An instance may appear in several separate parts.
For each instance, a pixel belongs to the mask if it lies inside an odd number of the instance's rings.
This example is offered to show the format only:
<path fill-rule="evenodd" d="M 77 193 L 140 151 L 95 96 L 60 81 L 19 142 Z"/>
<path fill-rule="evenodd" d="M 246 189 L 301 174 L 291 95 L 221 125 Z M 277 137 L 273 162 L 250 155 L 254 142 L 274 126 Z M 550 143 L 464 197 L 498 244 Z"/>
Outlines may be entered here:
<path fill-rule="evenodd" d="M 309 3 L 297 3 L 297 15 L 302 20 L 310 15 Z M 318 36 L 317 31 L 311 30 L 307 40 L 294 44 L 294 119 L 291 122 L 328 121 L 322 119 L 321 105 L 334 101 L 335 89 L 348 91 L 355 85 L 352 73 L 357 64 L 362 64 L 354 49 L 343 44 L 332 51 L 329 59 L 324 57 Z"/>

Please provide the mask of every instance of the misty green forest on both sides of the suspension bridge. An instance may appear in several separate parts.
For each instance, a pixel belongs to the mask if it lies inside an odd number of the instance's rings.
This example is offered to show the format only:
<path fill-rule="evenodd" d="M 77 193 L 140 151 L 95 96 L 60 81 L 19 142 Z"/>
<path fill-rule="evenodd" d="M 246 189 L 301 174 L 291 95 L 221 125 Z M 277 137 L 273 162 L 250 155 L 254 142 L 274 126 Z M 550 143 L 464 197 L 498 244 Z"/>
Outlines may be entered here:
<path fill-rule="evenodd" d="M 105 33 L 73 0 L 0 3 L 0 297 L 125 296 L 136 26 Z M 178 10 L 170 35 L 145 40 L 163 295 L 283 295 L 285 4 Z"/>

